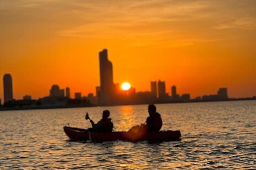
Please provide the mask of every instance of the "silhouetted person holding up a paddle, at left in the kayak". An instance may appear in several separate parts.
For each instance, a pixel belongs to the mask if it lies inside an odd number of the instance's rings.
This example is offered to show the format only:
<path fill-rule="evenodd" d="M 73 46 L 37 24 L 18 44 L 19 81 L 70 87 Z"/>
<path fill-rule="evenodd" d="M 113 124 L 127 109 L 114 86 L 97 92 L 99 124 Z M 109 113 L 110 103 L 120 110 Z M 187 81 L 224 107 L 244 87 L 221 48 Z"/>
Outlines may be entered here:
<path fill-rule="evenodd" d="M 93 120 L 91 120 L 88 116 L 88 113 L 86 113 L 85 119 L 89 119 L 92 125 L 92 128 L 88 128 L 88 131 L 92 132 L 111 132 L 113 131 L 113 123 L 110 118 L 108 118 L 110 115 L 109 110 L 104 110 L 102 113 L 102 119 L 98 123 L 94 123 Z"/>

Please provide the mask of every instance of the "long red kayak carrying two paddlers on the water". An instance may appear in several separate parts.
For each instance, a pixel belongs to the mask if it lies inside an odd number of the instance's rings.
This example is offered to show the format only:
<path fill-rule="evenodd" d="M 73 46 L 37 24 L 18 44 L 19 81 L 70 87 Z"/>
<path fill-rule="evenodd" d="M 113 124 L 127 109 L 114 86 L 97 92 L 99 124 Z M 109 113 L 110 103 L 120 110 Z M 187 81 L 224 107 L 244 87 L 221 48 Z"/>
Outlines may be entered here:
<path fill-rule="evenodd" d="M 71 140 L 74 141 L 177 141 L 180 140 L 180 131 L 156 131 L 156 132 L 110 132 L 110 133 L 99 133 L 89 132 L 85 129 L 72 128 L 64 126 L 64 131 Z"/>

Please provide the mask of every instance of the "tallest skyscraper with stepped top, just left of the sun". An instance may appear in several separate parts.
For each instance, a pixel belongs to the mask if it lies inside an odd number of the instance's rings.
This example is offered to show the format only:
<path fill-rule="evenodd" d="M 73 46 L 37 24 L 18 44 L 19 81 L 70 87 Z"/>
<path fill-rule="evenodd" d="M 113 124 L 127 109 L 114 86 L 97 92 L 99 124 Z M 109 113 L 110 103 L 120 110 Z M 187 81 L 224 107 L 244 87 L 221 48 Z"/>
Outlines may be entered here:
<path fill-rule="evenodd" d="M 108 105 L 112 102 L 114 92 L 113 82 L 113 67 L 112 63 L 107 58 L 107 49 L 99 52 L 100 60 L 100 80 L 101 80 L 101 92 L 100 92 L 100 105 Z"/>

